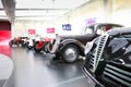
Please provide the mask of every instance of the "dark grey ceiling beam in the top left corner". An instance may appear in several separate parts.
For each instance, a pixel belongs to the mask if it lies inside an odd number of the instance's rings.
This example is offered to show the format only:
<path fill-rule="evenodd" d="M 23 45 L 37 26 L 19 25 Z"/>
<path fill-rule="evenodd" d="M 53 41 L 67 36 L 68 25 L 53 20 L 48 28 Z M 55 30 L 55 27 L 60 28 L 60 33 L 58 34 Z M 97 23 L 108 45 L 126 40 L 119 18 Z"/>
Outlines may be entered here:
<path fill-rule="evenodd" d="M 1 0 L 1 1 L 3 4 L 3 10 L 5 11 L 5 14 L 9 17 L 10 22 L 14 21 L 15 0 Z"/>

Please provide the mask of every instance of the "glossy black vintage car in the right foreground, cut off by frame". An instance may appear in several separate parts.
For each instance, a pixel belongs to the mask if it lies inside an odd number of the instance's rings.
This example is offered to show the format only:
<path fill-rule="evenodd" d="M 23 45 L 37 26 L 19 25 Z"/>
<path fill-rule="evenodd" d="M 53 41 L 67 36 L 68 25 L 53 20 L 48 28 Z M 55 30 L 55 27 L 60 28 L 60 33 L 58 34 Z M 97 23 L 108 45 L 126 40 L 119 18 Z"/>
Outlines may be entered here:
<path fill-rule="evenodd" d="M 86 54 L 84 70 L 94 87 L 131 87 L 131 27 L 98 37 Z"/>

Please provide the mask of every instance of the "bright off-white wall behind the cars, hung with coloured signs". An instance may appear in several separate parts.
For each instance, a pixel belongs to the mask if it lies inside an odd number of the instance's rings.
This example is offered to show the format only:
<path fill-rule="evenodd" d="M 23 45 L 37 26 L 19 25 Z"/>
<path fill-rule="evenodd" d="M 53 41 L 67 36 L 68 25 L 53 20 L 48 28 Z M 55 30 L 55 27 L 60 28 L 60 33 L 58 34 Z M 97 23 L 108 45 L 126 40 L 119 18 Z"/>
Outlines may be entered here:
<path fill-rule="evenodd" d="M 59 35 L 76 35 L 85 26 L 86 20 L 95 18 L 96 23 L 117 23 L 131 26 L 131 0 L 91 0 L 81 8 L 52 21 L 15 21 L 14 36 L 27 36 L 28 29 L 47 37 Z M 62 30 L 62 24 L 71 24 L 72 30 Z M 55 27 L 55 34 L 47 34 L 47 27 Z"/>

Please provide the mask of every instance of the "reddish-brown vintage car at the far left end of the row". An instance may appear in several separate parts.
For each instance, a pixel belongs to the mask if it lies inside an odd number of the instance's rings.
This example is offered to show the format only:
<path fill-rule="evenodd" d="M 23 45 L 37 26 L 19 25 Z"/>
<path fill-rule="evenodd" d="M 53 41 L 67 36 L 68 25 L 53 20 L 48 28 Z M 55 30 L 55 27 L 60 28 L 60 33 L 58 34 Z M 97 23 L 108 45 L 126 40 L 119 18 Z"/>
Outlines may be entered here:
<path fill-rule="evenodd" d="M 15 37 L 14 39 L 11 39 L 9 41 L 9 46 L 10 47 L 25 47 L 25 41 L 24 39 L 26 39 L 27 37 Z"/>

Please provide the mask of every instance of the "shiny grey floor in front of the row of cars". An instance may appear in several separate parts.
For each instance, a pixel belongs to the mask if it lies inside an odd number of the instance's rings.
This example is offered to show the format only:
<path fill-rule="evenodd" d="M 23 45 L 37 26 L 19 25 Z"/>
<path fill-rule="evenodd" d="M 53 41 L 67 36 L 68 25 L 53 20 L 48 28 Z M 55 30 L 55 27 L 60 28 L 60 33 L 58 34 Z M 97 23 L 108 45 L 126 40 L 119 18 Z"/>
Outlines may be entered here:
<path fill-rule="evenodd" d="M 82 61 L 67 64 L 26 48 L 13 48 L 14 71 L 8 87 L 91 87 Z"/>

